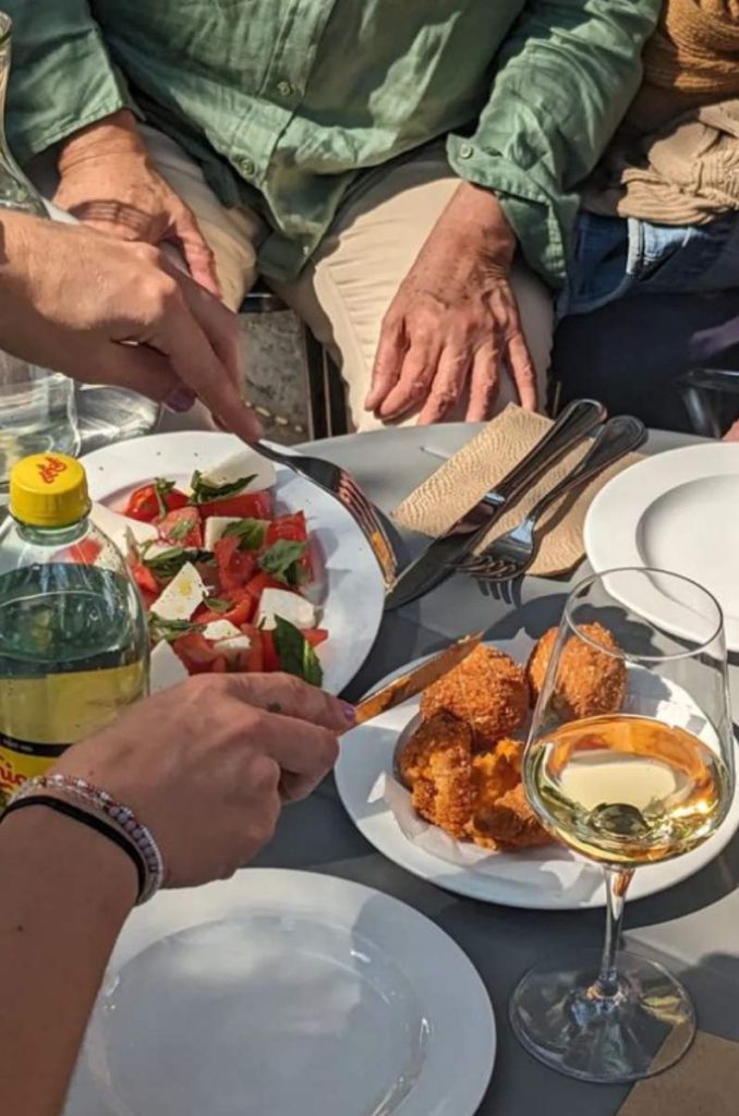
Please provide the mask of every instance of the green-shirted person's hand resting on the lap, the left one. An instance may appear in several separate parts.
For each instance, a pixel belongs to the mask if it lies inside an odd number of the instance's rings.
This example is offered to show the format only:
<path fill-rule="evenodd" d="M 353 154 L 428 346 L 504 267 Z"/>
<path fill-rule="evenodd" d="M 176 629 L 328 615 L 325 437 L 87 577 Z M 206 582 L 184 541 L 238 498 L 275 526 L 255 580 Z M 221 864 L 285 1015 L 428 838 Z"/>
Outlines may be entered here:
<path fill-rule="evenodd" d="M 61 147 L 54 201 L 100 232 L 175 244 L 192 278 L 220 295 L 215 262 L 192 211 L 154 170 L 133 113 L 121 109 Z"/>

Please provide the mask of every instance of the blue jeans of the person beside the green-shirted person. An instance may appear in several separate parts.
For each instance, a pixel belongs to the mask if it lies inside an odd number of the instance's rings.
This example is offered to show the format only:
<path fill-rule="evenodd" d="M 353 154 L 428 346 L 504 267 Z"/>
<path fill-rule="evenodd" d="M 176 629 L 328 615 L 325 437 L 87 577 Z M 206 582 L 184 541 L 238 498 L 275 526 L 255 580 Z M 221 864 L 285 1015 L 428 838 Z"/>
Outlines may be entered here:
<path fill-rule="evenodd" d="M 733 287 L 739 287 L 739 213 L 710 224 L 675 227 L 582 212 L 557 315 L 589 314 L 630 295 Z"/>

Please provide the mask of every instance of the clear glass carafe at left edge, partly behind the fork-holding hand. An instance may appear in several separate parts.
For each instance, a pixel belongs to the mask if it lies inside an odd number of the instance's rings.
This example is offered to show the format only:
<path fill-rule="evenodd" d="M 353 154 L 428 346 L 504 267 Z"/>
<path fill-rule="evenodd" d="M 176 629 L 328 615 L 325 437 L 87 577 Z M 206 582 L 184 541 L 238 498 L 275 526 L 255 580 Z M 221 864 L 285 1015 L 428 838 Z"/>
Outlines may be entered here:
<path fill-rule="evenodd" d="M 48 218 L 40 194 L 16 163 L 6 140 L 11 31 L 10 17 L 0 11 L 0 213 L 13 209 Z M 75 385 L 61 373 L 0 352 L 0 499 L 15 462 L 46 450 L 71 454 L 79 450 Z"/>

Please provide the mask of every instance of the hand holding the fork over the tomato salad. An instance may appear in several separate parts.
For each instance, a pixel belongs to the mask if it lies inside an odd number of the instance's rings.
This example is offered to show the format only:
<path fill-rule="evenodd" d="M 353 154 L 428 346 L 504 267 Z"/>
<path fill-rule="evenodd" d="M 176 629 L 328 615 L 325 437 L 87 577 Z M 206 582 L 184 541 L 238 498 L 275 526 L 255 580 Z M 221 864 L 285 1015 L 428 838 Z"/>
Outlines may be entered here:
<path fill-rule="evenodd" d="M 1 348 L 175 411 L 198 396 L 225 430 L 261 436 L 241 396 L 237 316 L 159 249 L 7 211 L 0 235 Z"/>

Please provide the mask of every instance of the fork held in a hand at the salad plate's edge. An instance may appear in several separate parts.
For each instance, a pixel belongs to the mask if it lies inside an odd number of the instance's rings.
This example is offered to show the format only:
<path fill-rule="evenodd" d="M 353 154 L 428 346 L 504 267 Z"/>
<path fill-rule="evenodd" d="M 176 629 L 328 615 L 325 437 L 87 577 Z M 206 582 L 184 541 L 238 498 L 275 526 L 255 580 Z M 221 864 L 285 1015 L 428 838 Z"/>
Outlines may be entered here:
<path fill-rule="evenodd" d="M 372 548 L 385 583 L 385 590 L 391 589 L 397 571 L 393 546 L 375 508 L 351 473 L 332 461 L 324 461 L 323 458 L 308 458 L 303 453 L 281 453 L 267 442 L 250 442 L 249 445 L 255 453 L 268 458 L 277 465 L 291 469 L 294 473 L 316 484 L 346 508 Z"/>

